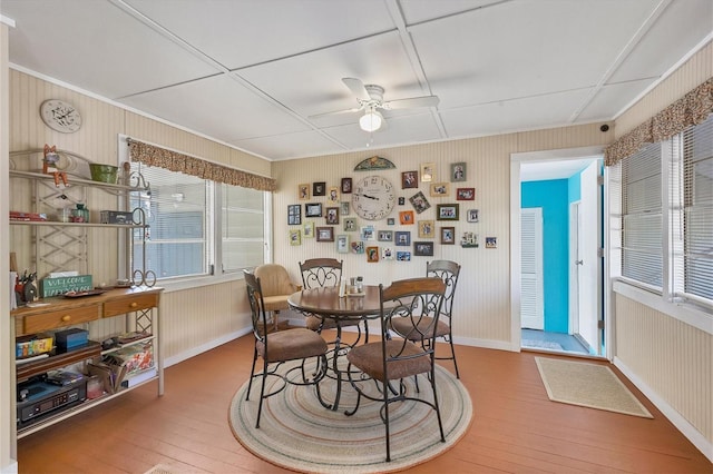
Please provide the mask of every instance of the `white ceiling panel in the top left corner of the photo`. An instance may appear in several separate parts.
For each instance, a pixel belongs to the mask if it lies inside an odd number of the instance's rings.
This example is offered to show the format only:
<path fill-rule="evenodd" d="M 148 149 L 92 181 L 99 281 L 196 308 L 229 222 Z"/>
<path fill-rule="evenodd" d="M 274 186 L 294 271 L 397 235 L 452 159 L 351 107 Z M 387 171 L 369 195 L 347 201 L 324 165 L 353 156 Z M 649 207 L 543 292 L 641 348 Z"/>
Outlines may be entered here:
<path fill-rule="evenodd" d="M 2 14 L 11 62 L 110 99 L 216 73 L 108 1 L 3 0 Z"/>

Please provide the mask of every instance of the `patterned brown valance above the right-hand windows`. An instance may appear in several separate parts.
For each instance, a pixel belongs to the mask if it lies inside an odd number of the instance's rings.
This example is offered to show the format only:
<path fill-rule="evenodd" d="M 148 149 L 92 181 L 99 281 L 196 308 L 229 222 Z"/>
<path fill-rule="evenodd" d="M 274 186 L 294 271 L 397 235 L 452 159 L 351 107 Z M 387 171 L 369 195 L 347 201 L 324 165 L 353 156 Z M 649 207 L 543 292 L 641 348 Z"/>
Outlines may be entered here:
<path fill-rule="evenodd" d="M 710 113 L 713 113 L 713 78 L 606 147 L 605 164 L 616 165 L 638 151 L 644 144 L 667 140 L 692 125 L 703 122 Z"/>

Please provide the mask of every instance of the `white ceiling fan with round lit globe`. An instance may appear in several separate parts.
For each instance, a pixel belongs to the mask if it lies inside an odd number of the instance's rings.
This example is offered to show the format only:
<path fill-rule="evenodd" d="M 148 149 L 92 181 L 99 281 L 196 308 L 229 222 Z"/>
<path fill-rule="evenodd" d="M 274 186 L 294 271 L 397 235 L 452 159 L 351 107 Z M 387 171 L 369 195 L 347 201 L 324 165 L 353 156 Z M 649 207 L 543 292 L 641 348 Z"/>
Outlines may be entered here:
<path fill-rule="evenodd" d="M 377 86 L 375 83 L 363 83 L 360 79 L 355 78 L 342 78 L 342 82 L 344 82 L 344 86 L 346 86 L 356 97 L 359 107 L 336 110 L 333 112 L 318 113 L 310 116 L 310 119 L 342 113 L 355 113 L 363 110 L 364 115 L 359 119 L 359 126 L 364 131 L 375 131 L 384 124 L 383 116 L 379 110 L 436 107 L 439 102 L 439 99 L 436 96 L 410 97 L 408 99 L 389 100 L 384 102 L 384 89 L 381 86 Z"/>

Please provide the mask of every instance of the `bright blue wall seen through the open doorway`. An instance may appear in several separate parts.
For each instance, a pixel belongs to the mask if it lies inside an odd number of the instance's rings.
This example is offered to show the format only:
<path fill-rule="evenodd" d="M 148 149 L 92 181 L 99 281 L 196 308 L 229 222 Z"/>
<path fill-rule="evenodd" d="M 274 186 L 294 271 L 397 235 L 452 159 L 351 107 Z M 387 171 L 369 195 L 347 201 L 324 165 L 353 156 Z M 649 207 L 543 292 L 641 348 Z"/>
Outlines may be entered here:
<path fill-rule="evenodd" d="M 543 208 L 545 330 L 554 333 L 567 333 L 569 326 L 569 203 L 579 199 L 578 176 L 576 198 L 572 178 L 521 184 L 520 206 Z"/>

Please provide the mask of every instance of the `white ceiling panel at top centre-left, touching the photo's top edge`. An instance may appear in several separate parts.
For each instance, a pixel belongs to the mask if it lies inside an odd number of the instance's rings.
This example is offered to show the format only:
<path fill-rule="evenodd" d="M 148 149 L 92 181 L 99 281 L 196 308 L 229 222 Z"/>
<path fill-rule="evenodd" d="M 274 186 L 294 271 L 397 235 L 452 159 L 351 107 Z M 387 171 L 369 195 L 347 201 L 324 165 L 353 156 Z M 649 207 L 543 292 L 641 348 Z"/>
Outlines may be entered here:
<path fill-rule="evenodd" d="M 382 0 L 127 2 L 228 69 L 395 28 Z"/>

